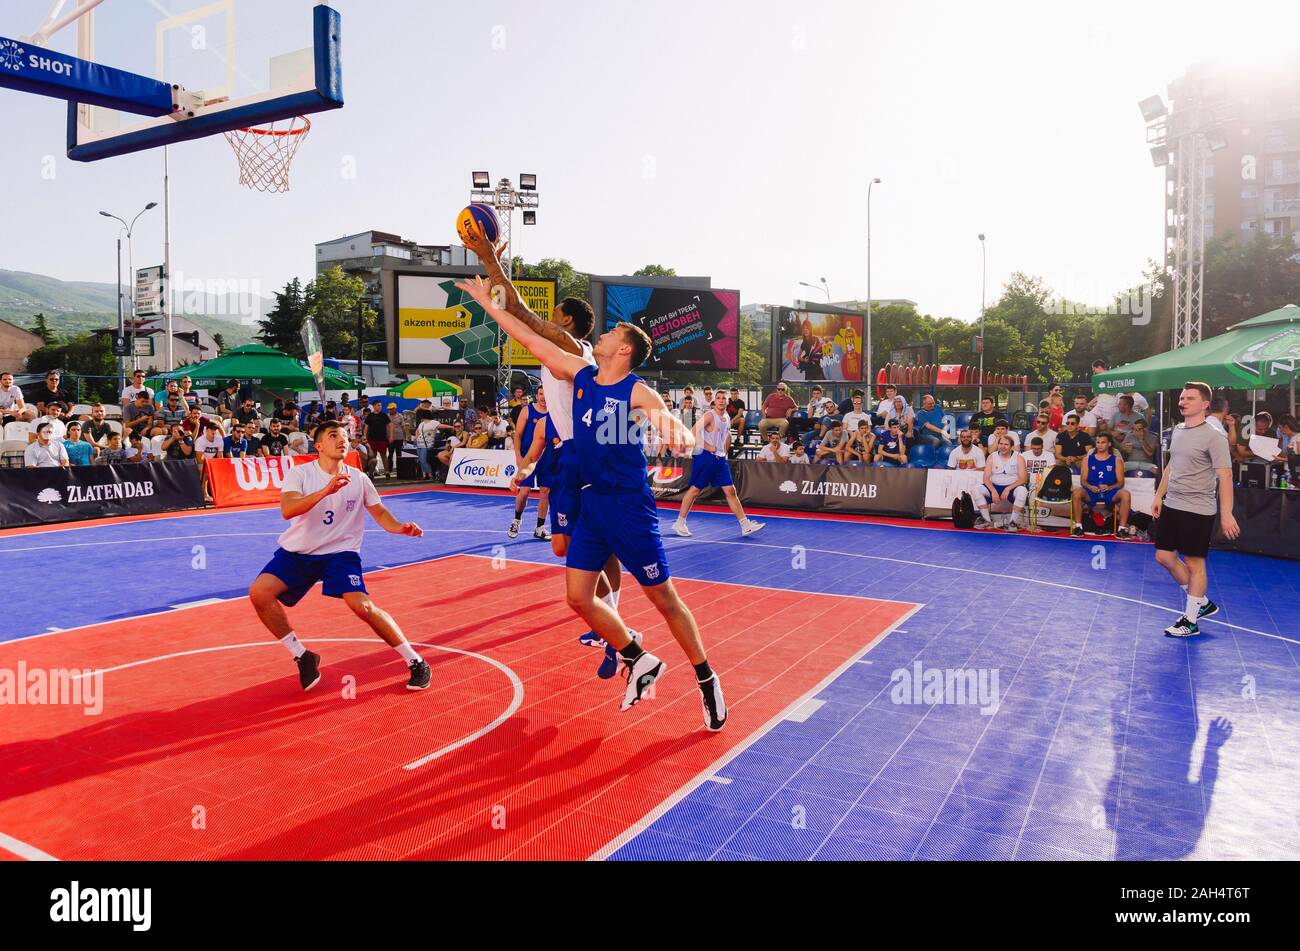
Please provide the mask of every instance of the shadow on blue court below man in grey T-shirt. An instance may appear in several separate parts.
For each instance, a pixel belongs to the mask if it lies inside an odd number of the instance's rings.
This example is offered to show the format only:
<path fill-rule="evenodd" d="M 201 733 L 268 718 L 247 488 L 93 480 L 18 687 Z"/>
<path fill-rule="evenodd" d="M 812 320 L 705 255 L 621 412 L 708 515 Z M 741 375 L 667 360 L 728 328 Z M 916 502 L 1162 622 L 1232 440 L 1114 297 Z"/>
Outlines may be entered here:
<path fill-rule="evenodd" d="M 1187 859 L 1205 831 L 1205 817 L 1214 799 L 1219 773 L 1219 750 L 1232 735 L 1232 724 L 1213 718 L 1206 730 L 1205 754 L 1199 776 L 1190 780 L 1195 764 L 1199 717 L 1195 705 L 1170 705 L 1167 713 L 1135 712 L 1143 699 L 1167 702 L 1183 698 L 1195 704 L 1188 678 L 1188 659 L 1182 643 L 1148 655 L 1139 669 L 1147 674 L 1132 685 L 1127 709 L 1112 709 L 1117 744 L 1115 770 L 1104 800 L 1106 828 L 1115 835 L 1118 861 Z M 1195 650 L 1196 644 L 1186 644 Z M 1192 665 L 1192 669 L 1197 669 Z M 1121 739 L 1122 738 L 1122 739 Z"/>

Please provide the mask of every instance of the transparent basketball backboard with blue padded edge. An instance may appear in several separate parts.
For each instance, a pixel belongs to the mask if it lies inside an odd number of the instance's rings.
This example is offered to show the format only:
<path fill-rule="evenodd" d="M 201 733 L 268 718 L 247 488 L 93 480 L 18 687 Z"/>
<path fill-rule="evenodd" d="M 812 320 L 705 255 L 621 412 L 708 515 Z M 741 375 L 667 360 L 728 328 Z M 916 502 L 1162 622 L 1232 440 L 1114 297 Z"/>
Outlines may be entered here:
<path fill-rule="evenodd" d="M 339 14 L 311 0 L 108 0 L 75 56 L 183 90 L 170 116 L 68 103 L 68 157 L 95 161 L 343 105 Z"/>

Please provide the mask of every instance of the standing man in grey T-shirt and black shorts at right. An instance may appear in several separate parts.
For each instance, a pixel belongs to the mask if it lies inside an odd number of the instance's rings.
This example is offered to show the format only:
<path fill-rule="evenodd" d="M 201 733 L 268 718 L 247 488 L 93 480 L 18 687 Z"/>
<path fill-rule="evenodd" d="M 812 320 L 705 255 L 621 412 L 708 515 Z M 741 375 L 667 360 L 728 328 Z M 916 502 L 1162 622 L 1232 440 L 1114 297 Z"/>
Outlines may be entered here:
<path fill-rule="evenodd" d="M 1214 533 L 1214 488 L 1223 537 L 1242 534 L 1232 516 L 1232 456 L 1227 439 L 1205 421 L 1213 392 L 1205 383 L 1184 383 L 1178 396 L 1183 421 L 1169 438 L 1169 465 L 1160 479 L 1150 513 L 1156 522 L 1156 561 L 1174 576 L 1187 595 L 1183 616 L 1165 629 L 1171 638 L 1200 634 L 1197 621 L 1218 613 L 1205 596 L 1205 557 Z M 1179 560 L 1179 555 L 1186 561 Z"/>

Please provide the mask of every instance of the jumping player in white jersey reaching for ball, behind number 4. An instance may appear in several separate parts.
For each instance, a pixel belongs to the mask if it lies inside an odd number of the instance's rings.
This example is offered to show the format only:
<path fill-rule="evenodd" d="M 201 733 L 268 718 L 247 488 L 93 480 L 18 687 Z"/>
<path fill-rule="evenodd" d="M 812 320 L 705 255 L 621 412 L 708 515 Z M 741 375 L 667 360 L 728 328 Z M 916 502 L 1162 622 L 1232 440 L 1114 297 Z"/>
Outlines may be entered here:
<path fill-rule="evenodd" d="M 491 242 L 482 236 L 476 229 L 469 229 L 468 236 L 462 235 L 465 247 L 478 256 L 478 261 L 488 272 L 488 283 L 493 288 L 493 296 L 503 311 L 515 314 L 528 327 L 554 343 L 566 353 L 581 357 L 590 366 L 595 366 L 595 357 L 592 353 L 592 330 L 595 326 L 595 312 L 585 300 L 577 298 L 564 298 L 551 312 L 551 318 L 543 321 L 528 309 L 528 305 L 519 296 L 515 285 L 510 282 L 502 270 L 498 255 L 504 248 L 494 248 Z M 498 296 L 499 295 L 499 296 Z M 549 405 L 546 435 L 555 453 L 542 474 L 546 483 L 547 501 L 551 516 L 551 551 L 556 557 L 568 555 L 569 539 L 577 526 L 578 505 L 581 495 L 577 485 L 577 466 L 572 459 L 573 440 L 573 381 L 560 379 L 547 366 L 542 366 L 542 388 L 546 391 Z M 526 473 L 525 473 L 526 477 Z M 512 481 L 511 488 L 517 491 L 517 485 Z M 618 557 L 610 556 L 604 565 L 597 587 L 597 596 L 608 604 L 615 612 L 619 609 L 619 591 L 623 586 L 623 569 Z M 636 640 L 641 640 L 641 634 L 632 631 Z M 619 655 L 595 631 L 586 631 L 578 637 L 578 643 L 586 647 L 603 647 L 604 659 L 597 670 L 597 676 L 608 679 L 619 670 Z"/>

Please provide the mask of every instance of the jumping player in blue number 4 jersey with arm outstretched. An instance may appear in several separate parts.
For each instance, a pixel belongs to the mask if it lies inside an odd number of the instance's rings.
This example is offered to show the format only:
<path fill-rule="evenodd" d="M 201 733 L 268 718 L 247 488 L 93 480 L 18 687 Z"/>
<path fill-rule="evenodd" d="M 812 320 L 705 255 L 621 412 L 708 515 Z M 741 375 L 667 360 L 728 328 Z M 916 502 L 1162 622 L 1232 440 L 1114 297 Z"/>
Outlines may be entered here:
<path fill-rule="evenodd" d="M 722 682 L 708 665 L 699 629 L 677 595 L 659 537 L 659 513 L 646 482 L 645 431 L 654 426 L 675 452 L 689 452 L 694 437 L 663 398 L 632 370 L 650 356 L 644 330 L 619 323 L 603 333 L 593 348 L 595 366 L 566 352 L 536 333 L 515 314 L 493 303 L 497 288 L 481 278 L 458 282 L 500 327 L 542 361 L 556 378 L 573 382 L 573 452 L 581 503 L 566 559 L 566 595 L 569 607 L 592 625 L 623 657 L 628 686 L 623 709 L 653 696 L 655 679 L 666 672 L 659 657 L 644 650 L 618 613 L 597 596 L 601 570 L 610 556 L 641 583 L 646 598 L 663 616 L 677 644 L 696 670 L 705 726 L 720 730 L 727 722 Z M 502 288 L 500 294 L 504 294 Z"/>

